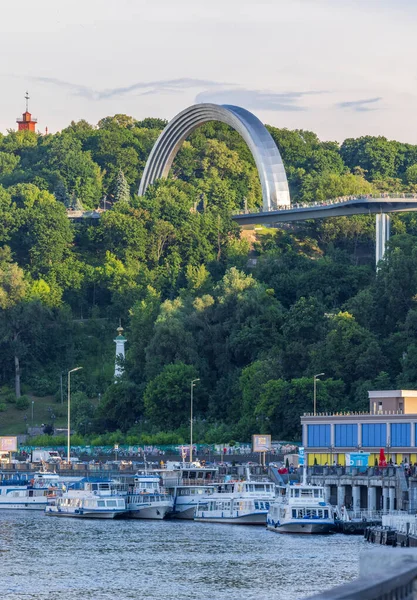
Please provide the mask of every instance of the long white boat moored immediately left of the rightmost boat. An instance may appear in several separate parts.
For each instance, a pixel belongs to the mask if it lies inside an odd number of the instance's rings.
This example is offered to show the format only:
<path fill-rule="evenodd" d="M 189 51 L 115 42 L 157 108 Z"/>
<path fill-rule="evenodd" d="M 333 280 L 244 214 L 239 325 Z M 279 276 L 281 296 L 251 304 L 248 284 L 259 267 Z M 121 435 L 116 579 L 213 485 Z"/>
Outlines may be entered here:
<path fill-rule="evenodd" d="M 207 523 L 265 525 L 270 504 L 275 500 L 275 484 L 270 481 L 228 482 L 201 500 L 194 520 Z"/>

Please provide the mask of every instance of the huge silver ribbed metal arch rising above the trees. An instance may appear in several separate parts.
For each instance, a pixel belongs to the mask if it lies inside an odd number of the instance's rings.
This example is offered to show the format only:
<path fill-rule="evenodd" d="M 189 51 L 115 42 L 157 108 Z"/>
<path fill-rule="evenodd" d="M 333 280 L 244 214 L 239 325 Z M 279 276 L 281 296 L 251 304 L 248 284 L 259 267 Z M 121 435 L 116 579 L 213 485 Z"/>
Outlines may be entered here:
<path fill-rule="evenodd" d="M 139 186 L 143 196 L 154 181 L 168 176 L 172 162 L 185 138 L 208 121 L 230 125 L 252 152 L 262 186 L 263 210 L 290 205 L 287 175 L 271 134 L 251 112 L 239 106 L 194 104 L 178 113 L 155 142 L 146 162 Z"/>

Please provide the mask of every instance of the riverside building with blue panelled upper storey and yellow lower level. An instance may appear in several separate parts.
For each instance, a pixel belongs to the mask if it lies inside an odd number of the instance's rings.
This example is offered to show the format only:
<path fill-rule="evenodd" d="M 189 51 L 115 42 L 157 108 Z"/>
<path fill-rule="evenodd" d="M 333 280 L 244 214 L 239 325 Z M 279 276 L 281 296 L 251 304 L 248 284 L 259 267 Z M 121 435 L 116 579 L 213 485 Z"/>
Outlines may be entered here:
<path fill-rule="evenodd" d="M 317 413 L 301 417 L 309 465 L 345 465 L 346 454 L 369 453 L 374 466 L 384 450 L 387 462 L 417 462 L 417 391 L 369 392 L 368 413 Z"/>

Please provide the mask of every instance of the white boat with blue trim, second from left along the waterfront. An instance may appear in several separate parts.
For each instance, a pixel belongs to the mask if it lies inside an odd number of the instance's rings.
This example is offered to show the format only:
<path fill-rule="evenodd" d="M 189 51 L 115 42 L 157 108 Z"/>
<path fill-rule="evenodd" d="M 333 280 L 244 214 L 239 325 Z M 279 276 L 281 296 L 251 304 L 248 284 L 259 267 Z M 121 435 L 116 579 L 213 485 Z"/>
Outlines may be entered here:
<path fill-rule="evenodd" d="M 45 514 L 55 517 L 114 519 L 126 513 L 126 492 L 110 480 L 81 479 L 70 484 Z"/>

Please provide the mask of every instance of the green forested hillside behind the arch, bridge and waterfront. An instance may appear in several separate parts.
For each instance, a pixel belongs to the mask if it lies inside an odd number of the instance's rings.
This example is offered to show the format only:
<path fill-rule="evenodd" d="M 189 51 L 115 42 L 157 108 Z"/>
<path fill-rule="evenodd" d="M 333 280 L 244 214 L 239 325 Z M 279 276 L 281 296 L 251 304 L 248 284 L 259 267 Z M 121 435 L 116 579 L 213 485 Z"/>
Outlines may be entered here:
<path fill-rule="evenodd" d="M 261 204 L 257 171 L 238 134 L 215 123 L 139 198 L 164 125 L 116 115 L 0 135 L 0 434 L 11 406 L 59 400 L 60 374 L 78 365 L 74 424 L 92 436 L 180 440 L 195 378 L 196 436 L 207 442 L 297 438 L 315 373 L 325 373 L 319 411 L 366 409 L 369 389 L 417 386 L 417 217 L 393 217 L 377 274 L 372 217 L 241 234 L 230 215 Z M 417 192 L 417 146 L 269 130 L 295 202 Z M 99 222 L 67 218 L 104 205 Z M 119 320 L 127 359 L 114 384 Z"/>

